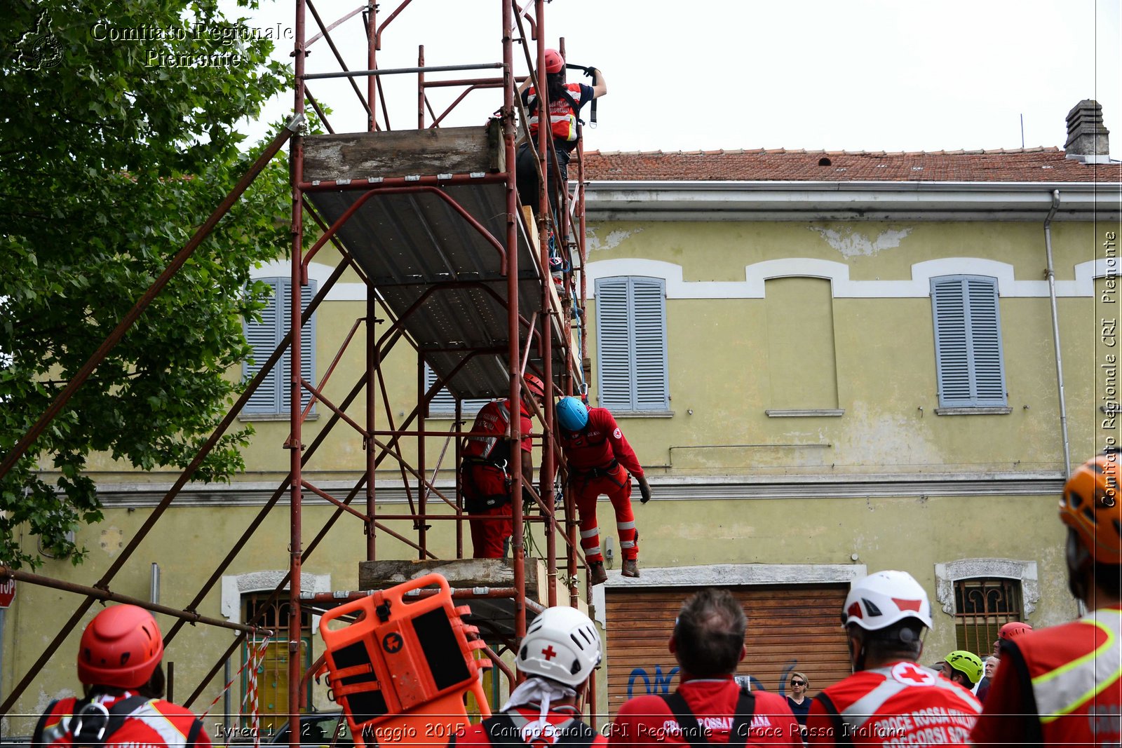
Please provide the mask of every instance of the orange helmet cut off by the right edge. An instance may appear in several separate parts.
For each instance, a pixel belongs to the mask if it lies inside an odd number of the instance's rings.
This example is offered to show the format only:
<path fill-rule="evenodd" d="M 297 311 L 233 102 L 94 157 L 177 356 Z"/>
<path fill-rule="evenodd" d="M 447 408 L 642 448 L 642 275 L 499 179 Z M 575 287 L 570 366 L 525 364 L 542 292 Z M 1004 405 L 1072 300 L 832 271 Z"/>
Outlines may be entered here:
<path fill-rule="evenodd" d="M 1083 463 L 1064 484 L 1060 520 L 1074 529 L 1101 564 L 1122 564 L 1122 505 L 1119 479 L 1122 453 L 1109 452 Z"/>

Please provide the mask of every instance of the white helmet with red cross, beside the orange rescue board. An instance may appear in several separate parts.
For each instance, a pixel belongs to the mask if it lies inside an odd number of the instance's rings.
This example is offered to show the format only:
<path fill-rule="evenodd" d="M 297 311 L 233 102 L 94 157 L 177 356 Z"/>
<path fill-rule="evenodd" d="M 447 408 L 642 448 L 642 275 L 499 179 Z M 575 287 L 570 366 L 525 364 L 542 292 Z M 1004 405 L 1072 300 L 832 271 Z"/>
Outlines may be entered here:
<path fill-rule="evenodd" d="M 518 669 L 568 686 L 578 686 L 600 664 L 600 635 L 592 620 L 576 608 L 543 610 L 526 629 L 518 649 Z"/>

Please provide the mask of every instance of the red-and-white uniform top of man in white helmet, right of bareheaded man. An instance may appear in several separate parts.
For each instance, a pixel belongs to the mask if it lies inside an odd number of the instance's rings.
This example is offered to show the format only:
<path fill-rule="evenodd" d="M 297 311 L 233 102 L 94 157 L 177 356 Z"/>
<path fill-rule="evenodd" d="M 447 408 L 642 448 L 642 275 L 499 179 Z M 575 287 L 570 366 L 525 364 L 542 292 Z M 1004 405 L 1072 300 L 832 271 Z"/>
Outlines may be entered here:
<path fill-rule="evenodd" d="M 973 693 L 907 661 L 854 673 L 822 693 L 855 746 L 966 746 L 982 711 Z M 845 742 L 818 696 L 807 715 L 807 741 Z"/>

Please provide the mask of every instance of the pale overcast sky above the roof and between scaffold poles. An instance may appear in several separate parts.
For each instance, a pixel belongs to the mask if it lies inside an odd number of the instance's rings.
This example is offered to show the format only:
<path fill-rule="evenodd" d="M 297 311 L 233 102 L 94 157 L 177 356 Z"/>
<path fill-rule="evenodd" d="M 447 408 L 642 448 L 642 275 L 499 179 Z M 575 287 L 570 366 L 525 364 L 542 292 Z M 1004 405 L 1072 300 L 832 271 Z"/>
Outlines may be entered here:
<path fill-rule="evenodd" d="M 316 8 L 327 21 L 359 2 L 320 0 Z M 379 18 L 397 6 L 398 0 L 383 0 Z M 1024 146 L 1063 148 L 1067 112 L 1082 99 L 1097 99 L 1119 157 L 1120 6 L 1122 0 L 716 0 L 696 6 L 553 0 L 545 9 L 545 35 L 551 45 L 563 36 L 569 62 L 599 67 L 608 83 L 599 126 L 586 130 L 590 149 L 1020 148 L 1022 114 Z M 293 8 L 291 0 L 263 0 L 249 25 L 291 28 Z M 419 44 L 425 45 L 427 65 L 498 62 L 499 8 L 499 0 L 413 0 L 386 29 L 378 65 L 416 65 Z M 348 65 L 365 68 L 360 22 L 348 24 L 349 31 L 340 28 L 333 36 Z M 278 57 L 291 59 L 291 41 L 278 47 Z M 309 72 L 329 70 L 328 46 L 320 41 L 311 49 Z M 516 49 L 519 75 L 526 72 L 523 59 Z M 311 86 L 334 109 L 337 131 L 364 129 L 364 113 L 348 85 Z M 365 91 L 365 84 L 360 87 Z M 387 94 L 392 127 L 415 128 L 416 76 L 387 81 Z M 454 95 L 452 89 L 430 90 L 438 112 Z M 445 123 L 481 123 L 499 104 L 497 90 L 473 92 Z M 266 120 L 283 118 L 291 107 L 289 94 Z M 260 124 L 246 129 L 255 137 L 267 131 Z"/>

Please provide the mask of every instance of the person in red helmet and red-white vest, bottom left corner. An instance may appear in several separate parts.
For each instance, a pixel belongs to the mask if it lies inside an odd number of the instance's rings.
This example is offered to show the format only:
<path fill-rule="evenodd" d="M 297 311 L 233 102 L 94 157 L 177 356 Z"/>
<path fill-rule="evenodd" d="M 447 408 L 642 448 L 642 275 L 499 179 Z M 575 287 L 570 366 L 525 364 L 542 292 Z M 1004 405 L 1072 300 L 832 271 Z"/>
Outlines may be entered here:
<path fill-rule="evenodd" d="M 77 677 L 82 699 L 61 699 L 35 726 L 31 745 L 206 748 L 202 721 L 164 701 L 164 640 L 144 608 L 112 606 L 82 632 Z"/>

